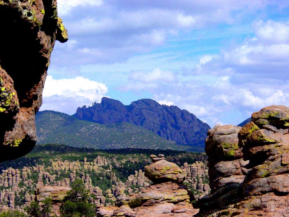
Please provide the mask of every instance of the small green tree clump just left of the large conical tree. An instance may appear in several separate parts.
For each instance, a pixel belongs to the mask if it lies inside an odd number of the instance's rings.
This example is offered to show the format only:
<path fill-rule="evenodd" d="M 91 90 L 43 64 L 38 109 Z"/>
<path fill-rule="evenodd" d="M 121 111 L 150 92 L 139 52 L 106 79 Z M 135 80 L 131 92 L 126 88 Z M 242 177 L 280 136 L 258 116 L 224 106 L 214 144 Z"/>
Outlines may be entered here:
<path fill-rule="evenodd" d="M 26 211 L 30 217 L 50 217 L 51 214 L 53 214 L 52 200 L 49 197 L 45 198 L 44 200 L 42 200 L 41 207 L 39 206 L 38 201 L 32 201 L 30 203 L 30 206 L 24 208 L 24 211 Z"/>

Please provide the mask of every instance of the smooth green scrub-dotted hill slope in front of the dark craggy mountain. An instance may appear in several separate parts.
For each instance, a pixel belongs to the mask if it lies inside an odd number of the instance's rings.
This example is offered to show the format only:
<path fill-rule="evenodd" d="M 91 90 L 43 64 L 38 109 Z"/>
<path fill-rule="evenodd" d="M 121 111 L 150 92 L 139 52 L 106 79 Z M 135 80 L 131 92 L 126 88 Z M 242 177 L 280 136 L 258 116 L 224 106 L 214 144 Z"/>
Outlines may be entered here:
<path fill-rule="evenodd" d="M 188 150 L 129 123 L 98 124 L 54 111 L 36 114 L 37 143 L 59 143 L 94 149 L 148 148 Z M 195 149 L 196 150 L 196 149 Z"/>

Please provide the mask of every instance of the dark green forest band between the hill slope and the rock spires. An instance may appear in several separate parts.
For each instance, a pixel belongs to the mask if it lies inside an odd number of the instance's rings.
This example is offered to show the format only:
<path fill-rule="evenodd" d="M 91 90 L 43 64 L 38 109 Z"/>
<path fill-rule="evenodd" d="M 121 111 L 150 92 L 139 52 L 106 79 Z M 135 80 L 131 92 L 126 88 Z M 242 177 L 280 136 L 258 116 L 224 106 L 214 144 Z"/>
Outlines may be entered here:
<path fill-rule="evenodd" d="M 97 156 L 105 156 L 107 158 L 117 158 L 118 160 L 129 159 L 131 157 L 137 156 L 149 156 L 151 154 L 162 153 L 165 156 L 173 156 L 174 160 L 172 162 L 188 164 L 193 163 L 197 160 L 200 160 L 198 156 L 200 153 L 186 153 L 184 151 L 175 151 L 175 150 L 155 150 L 155 149 L 108 149 L 108 150 L 99 150 L 99 149 L 88 149 L 88 148 L 78 148 L 71 147 L 66 145 L 59 144 L 43 144 L 36 145 L 34 149 L 28 153 L 26 156 L 21 158 L 5 161 L 0 164 L 0 170 L 7 169 L 12 167 L 14 169 L 21 169 L 23 166 L 35 166 L 36 164 L 44 164 L 45 166 L 50 165 L 50 159 L 62 159 L 68 161 L 77 161 L 83 162 L 84 158 L 87 161 L 93 161 Z M 205 156 L 205 154 L 201 154 Z M 174 157 L 176 156 L 176 157 Z M 142 157 L 144 158 L 144 157 Z M 143 169 L 144 165 L 142 163 L 133 165 L 134 168 Z M 132 171 L 132 167 L 127 168 L 129 171 Z M 38 179 L 38 174 L 32 174 L 32 180 Z M 67 178 L 67 177 L 66 177 Z"/>

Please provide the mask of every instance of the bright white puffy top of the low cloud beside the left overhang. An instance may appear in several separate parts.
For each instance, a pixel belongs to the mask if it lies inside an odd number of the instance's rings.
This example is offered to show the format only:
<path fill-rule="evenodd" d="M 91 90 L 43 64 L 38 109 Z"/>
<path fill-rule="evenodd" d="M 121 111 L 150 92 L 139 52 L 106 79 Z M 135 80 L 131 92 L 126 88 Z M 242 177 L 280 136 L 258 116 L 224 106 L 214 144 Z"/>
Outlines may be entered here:
<path fill-rule="evenodd" d="M 87 78 L 76 77 L 73 79 L 55 80 L 51 75 L 48 75 L 45 81 L 43 97 L 54 95 L 65 97 L 80 96 L 89 99 L 91 102 L 99 102 L 107 91 L 108 88 L 103 83 Z"/>

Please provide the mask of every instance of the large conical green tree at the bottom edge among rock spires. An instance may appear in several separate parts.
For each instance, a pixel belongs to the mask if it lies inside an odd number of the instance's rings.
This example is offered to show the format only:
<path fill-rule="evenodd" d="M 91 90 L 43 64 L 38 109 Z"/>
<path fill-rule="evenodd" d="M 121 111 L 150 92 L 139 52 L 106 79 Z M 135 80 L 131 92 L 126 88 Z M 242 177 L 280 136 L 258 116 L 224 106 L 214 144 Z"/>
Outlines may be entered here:
<path fill-rule="evenodd" d="M 96 216 L 96 206 L 81 179 L 76 179 L 71 184 L 71 190 L 67 192 L 60 206 L 60 213 L 61 217 Z"/>

